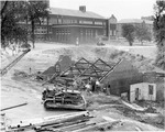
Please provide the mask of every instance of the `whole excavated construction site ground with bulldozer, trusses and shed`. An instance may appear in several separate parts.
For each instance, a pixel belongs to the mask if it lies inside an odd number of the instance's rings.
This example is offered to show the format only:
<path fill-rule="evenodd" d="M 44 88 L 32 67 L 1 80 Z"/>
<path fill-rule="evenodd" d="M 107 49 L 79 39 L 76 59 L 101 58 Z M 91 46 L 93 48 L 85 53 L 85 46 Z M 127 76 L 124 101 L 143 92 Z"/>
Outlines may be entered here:
<path fill-rule="evenodd" d="M 1 51 L 1 131 L 164 131 L 155 46 L 35 45 Z"/>

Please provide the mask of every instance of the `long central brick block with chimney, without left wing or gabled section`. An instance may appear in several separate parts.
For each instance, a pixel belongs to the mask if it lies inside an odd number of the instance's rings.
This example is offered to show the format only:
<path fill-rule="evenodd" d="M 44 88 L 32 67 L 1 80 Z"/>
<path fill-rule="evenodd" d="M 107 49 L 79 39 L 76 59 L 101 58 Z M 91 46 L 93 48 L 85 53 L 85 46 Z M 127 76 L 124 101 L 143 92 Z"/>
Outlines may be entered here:
<path fill-rule="evenodd" d="M 64 43 L 92 43 L 98 36 L 107 36 L 107 20 L 94 12 L 51 8 L 51 38 Z"/>

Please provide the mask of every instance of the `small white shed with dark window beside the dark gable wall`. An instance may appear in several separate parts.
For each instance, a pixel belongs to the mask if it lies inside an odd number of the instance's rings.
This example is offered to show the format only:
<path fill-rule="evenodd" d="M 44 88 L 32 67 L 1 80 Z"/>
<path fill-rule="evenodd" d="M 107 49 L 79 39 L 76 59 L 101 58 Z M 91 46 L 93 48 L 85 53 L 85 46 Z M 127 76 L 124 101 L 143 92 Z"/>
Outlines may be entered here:
<path fill-rule="evenodd" d="M 156 100 L 156 84 L 139 82 L 130 85 L 130 102 L 135 100 Z"/>

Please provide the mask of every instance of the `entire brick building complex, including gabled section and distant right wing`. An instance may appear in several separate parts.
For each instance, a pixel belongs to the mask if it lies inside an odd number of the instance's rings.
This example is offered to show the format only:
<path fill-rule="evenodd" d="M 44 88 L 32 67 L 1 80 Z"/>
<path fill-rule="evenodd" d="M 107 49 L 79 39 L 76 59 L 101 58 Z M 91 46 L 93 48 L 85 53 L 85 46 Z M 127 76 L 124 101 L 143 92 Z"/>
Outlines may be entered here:
<path fill-rule="evenodd" d="M 43 0 L 50 7 L 50 0 Z M 48 21 L 47 21 L 48 20 Z M 20 22 L 31 30 L 31 23 Z M 118 21 L 112 14 L 106 19 L 80 6 L 79 10 L 50 8 L 48 19 L 41 19 L 41 24 L 35 24 L 35 40 L 59 43 L 96 43 L 100 37 L 118 40 L 122 37 L 123 24 L 145 24 L 153 37 L 153 21 L 142 19 L 125 19 Z"/>

